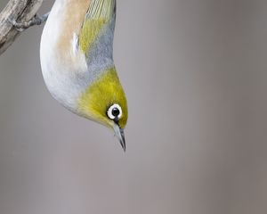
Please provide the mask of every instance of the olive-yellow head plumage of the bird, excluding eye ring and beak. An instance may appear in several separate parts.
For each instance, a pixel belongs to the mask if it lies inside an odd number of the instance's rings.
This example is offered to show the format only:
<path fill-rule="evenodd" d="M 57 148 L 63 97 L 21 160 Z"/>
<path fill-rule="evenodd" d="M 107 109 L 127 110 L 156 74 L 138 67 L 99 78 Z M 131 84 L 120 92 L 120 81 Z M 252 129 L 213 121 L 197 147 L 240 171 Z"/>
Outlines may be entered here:
<path fill-rule="evenodd" d="M 125 128 L 128 119 L 127 102 L 114 67 L 106 70 L 91 86 L 88 86 L 78 103 L 79 111 L 85 112 L 85 117 L 108 127 L 112 127 L 113 122 L 107 117 L 107 110 L 109 106 L 117 103 L 122 108 L 122 117 L 118 125 L 120 128 Z"/>

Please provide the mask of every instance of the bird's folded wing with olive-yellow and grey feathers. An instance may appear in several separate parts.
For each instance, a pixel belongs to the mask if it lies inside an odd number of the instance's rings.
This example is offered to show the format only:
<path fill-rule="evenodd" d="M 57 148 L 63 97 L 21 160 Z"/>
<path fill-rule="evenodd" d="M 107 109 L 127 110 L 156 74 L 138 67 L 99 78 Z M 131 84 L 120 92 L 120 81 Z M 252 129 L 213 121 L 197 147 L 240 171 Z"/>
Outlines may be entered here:
<path fill-rule="evenodd" d="M 116 0 L 91 0 L 78 37 L 79 47 L 88 58 L 87 62 L 90 56 L 105 54 L 104 49 L 111 51 L 112 58 L 115 18 Z M 97 50 L 93 51 L 95 48 Z"/>

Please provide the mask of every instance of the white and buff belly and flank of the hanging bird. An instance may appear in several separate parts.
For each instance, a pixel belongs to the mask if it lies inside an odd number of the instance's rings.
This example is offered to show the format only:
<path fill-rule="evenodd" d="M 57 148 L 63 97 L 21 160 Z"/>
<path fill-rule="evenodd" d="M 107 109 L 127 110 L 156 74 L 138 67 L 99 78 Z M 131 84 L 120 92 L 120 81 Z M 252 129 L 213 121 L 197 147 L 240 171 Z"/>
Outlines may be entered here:
<path fill-rule="evenodd" d="M 53 5 L 41 38 L 40 59 L 44 82 L 50 93 L 70 111 L 77 113 L 77 98 L 87 85 L 85 54 L 76 48 L 77 33 L 85 14 L 73 17 L 65 29 L 67 7 L 69 3 L 61 0 Z"/>

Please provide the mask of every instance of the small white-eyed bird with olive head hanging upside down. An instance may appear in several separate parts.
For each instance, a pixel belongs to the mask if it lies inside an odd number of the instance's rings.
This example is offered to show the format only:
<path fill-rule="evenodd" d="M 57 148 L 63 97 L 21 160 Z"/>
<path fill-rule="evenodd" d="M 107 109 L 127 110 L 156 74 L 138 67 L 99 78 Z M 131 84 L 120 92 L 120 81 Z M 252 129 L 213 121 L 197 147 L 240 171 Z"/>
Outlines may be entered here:
<path fill-rule="evenodd" d="M 56 0 L 44 25 L 44 82 L 69 111 L 112 129 L 125 151 L 125 91 L 113 60 L 116 0 Z"/>

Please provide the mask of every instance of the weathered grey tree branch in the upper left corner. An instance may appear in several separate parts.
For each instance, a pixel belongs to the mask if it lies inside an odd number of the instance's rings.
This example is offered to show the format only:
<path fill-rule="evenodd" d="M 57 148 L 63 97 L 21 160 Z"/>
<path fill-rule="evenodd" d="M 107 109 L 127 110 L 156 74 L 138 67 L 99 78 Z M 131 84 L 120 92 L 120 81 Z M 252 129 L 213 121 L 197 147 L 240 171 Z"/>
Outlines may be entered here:
<path fill-rule="evenodd" d="M 20 36 L 12 21 L 31 21 L 42 5 L 43 0 L 10 0 L 0 13 L 0 55 Z"/>

